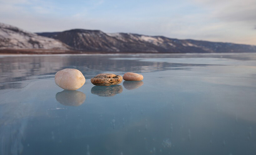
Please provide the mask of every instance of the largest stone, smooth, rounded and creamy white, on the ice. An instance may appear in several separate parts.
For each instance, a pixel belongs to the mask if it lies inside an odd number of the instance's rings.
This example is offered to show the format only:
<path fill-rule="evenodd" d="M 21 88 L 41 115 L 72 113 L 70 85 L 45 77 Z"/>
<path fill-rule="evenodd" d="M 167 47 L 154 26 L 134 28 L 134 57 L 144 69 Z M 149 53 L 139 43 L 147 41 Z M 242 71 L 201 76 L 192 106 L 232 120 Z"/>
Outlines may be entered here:
<path fill-rule="evenodd" d="M 77 90 L 85 84 L 85 77 L 77 69 L 62 69 L 55 74 L 55 83 L 64 90 Z"/>

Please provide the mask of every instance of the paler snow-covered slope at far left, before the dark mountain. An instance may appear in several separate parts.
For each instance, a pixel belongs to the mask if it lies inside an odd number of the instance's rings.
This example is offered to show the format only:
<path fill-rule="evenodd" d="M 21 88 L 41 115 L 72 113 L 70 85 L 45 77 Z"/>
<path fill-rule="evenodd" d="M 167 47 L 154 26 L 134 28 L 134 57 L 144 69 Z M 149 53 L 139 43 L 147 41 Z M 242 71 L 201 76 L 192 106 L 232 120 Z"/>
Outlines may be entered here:
<path fill-rule="evenodd" d="M 68 50 L 69 48 L 59 40 L 0 23 L 0 49 Z"/>

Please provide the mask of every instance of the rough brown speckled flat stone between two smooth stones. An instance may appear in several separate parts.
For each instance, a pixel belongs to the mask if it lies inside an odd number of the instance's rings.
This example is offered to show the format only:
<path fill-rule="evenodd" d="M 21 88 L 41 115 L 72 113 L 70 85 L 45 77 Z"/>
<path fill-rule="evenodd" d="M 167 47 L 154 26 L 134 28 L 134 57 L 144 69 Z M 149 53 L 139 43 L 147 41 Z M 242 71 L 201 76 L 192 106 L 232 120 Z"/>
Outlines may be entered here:
<path fill-rule="evenodd" d="M 98 74 L 91 79 L 92 84 L 95 86 L 111 86 L 119 84 L 123 81 L 123 77 L 116 74 Z"/>

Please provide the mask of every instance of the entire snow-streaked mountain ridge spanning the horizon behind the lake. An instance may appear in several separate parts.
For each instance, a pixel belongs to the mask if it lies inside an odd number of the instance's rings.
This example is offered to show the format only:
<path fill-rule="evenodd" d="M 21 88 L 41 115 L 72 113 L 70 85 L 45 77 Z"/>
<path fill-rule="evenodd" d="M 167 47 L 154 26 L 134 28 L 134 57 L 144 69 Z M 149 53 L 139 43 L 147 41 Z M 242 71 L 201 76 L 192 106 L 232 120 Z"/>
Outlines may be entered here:
<path fill-rule="evenodd" d="M 227 53 L 256 52 L 256 46 L 201 40 L 179 40 L 136 33 L 104 33 L 100 30 L 70 29 L 31 33 L 0 23 L 0 50 L 48 50 L 57 53 Z"/>

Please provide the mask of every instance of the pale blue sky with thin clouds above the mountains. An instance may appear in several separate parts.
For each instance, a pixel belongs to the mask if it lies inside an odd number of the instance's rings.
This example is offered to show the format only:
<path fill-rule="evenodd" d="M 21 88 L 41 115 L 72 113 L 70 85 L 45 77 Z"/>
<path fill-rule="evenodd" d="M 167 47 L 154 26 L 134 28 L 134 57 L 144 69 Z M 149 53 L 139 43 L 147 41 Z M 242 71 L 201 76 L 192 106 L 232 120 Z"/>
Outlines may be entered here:
<path fill-rule="evenodd" d="M 256 45 L 256 0 L 0 0 L 0 22 Z"/>

